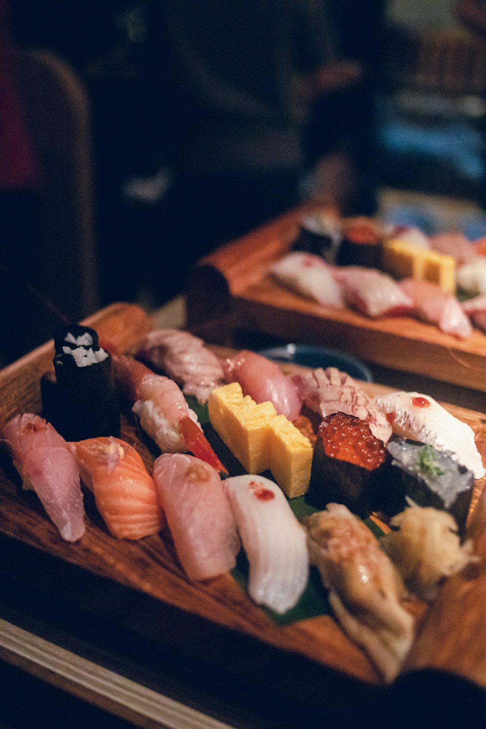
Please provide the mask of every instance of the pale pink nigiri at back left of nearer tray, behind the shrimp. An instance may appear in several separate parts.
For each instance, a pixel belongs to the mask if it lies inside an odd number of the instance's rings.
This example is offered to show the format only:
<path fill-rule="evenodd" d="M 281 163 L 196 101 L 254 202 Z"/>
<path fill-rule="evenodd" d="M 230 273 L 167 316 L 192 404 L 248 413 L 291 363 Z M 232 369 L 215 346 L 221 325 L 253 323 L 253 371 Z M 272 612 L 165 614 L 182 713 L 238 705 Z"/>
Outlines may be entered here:
<path fill-rule="evenodd" d="M 200 403 L 207 402 L 211 391 L 224 384 L 222 364 L 216 354 L 189 332 L 149 332 L 138 346 L 136 357 L 170 377 L 184 394 L 194 395 Z"/>

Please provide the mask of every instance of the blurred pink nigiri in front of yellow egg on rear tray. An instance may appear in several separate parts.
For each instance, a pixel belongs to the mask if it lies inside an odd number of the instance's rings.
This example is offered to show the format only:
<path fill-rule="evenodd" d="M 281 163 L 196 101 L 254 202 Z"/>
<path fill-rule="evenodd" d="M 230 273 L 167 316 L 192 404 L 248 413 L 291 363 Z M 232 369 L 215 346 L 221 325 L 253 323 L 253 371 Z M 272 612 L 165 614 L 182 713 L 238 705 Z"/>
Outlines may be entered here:
<path fill-rule="evenodd" d="M 414 278 L 405 278 L 399 286 L 412 299 L 414 313 L 419 319 L 437 324 L 442 332 L 460 339 L 471 335 L 471 322 L 455 296 L 446 294 L 437 284 Z"/>

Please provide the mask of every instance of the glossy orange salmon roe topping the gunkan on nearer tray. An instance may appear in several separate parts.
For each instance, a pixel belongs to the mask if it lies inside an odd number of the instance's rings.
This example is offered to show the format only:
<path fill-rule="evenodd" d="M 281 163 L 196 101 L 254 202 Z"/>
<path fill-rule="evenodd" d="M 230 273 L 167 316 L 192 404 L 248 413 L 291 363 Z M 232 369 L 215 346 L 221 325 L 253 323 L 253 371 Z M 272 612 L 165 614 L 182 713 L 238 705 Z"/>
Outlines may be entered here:
<path fill-rule="evenodd" d="M 385 461 L 385 445 L 375 438 L 367 421 L 345 413 L 328 415 L 318 430 L 324 453 L 339 461 L 348 461 L 369 471 Z"/>

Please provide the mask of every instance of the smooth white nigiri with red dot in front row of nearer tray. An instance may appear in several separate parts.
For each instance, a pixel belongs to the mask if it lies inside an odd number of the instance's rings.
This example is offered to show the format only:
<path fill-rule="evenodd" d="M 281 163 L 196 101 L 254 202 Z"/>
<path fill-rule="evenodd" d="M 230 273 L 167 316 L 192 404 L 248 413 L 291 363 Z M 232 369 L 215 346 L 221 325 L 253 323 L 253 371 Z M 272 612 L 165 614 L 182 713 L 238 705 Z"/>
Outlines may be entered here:
<path fill-rule="evenodd" d="M 250 564 L 248 591 L 278 613 L 294 607 L 309 576 L 305 531 L 278 486 L 263 476 L 224 481 Z"/>

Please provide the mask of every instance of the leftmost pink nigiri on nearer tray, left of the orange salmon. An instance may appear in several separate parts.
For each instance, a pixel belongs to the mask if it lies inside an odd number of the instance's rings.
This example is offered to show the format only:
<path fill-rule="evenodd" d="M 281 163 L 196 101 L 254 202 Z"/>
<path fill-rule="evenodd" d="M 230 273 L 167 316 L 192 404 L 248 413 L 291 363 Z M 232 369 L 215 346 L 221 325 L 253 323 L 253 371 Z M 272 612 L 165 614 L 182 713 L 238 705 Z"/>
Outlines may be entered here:
<path fill-rule="evenodd" d="M 4 426 L 3 437 L 23 488 L 36 492 L 63 539 L 81 539 L 85 507 L 79 468 L 64 438 L 33 413 L 12 418 Z"/>

